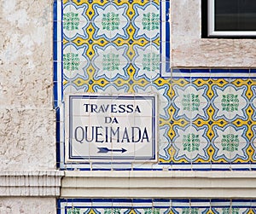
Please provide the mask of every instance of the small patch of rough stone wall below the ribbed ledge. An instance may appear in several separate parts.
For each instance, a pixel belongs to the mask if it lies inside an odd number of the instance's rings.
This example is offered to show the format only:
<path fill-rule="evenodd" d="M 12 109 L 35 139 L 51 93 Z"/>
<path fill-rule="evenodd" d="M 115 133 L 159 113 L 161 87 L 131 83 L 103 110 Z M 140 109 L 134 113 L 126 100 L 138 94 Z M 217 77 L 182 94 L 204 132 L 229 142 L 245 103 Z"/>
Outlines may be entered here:
<path fill-rule="evenodd" d="M 55 198 L 0 198 L 1 214 L 53 214 L 56 213 Z"/>

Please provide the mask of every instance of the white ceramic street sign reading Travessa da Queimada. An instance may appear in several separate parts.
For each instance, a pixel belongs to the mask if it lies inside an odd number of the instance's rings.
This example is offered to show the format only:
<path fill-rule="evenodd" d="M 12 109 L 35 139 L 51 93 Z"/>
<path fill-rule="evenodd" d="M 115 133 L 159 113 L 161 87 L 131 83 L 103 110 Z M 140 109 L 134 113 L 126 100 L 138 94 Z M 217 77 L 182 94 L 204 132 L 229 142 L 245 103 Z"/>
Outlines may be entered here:
<path fill-rule="evenodd" d="M 157 159 L 156 95 L 67 95 L 67 162 Z"/>

